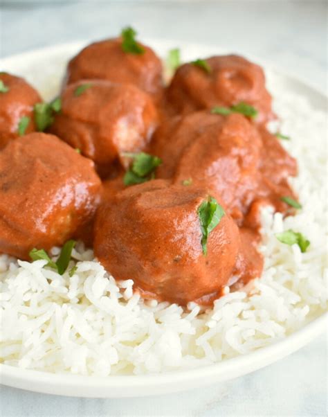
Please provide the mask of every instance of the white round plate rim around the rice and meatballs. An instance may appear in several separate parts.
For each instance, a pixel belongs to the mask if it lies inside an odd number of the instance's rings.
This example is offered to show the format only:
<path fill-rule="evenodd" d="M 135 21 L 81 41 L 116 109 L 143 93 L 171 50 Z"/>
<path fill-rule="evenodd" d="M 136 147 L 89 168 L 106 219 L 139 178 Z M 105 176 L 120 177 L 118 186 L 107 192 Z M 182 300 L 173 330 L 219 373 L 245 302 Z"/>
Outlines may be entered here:
<path fill-rule="evenodd" d="M 51 48 L 39 49 L 20 55 L 8 57 L 0 62 L 1 69 L 24 76 L 37 89 L 42 91 L 45 99 L 52 98 L 60 89 L 58 74 L 64 74 L 66 62 L 87 42 L 64 44 Z M 156 52 L 165 56 L 170 48 L 179 46 L 176 42 L 154 41 L 145 43 L 154 47 Z M 221 48 L 199 44 L 183 46 L 183 60 L 192 60 L 206 55 L 226 53 Z M 265 66 L 264 62 L 249 57 Z M 46 63 L 46 64 L 45 64 Z M 326 109 L 327 97 L 293 76 L 275 71 L 266 66 L 268 89 L 271 85 L 306 96 L 316 109 Z M 10 387 L 28 389 L 42 393 L 63 396 L 118 398 L 150 396 L 204 387 L 215 382 L 231 380 L 246 373 L 253 372 L 271 364 L 307 344 L 320 335 L 327 327 L 328 314 L 307 323 L 293 335 L 281 341 L 261 348 L 258 351 L 225 360 L 215 365 L 203 366 L 189 371 L 176 371 L 156 375 L 82 376 L 72 374 L 53 374 L 13 366 L 0 365 L 0 382 Z"/>

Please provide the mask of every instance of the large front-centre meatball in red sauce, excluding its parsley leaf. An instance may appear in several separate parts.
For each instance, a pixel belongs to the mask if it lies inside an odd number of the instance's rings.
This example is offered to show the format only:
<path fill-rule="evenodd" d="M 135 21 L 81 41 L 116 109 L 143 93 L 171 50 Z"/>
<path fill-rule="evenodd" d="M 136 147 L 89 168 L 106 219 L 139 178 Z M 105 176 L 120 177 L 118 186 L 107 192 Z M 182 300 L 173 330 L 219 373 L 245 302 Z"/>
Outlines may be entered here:
<path fill-rule="evenodd" d="M 209 193 L 158 179 L 116 193 L 96 215 L 95 256 L 146 298 L 185 305 L 219 294 L 235 267 L 239 231 L 224 215 L 204 255 L 198 211 Z"/>

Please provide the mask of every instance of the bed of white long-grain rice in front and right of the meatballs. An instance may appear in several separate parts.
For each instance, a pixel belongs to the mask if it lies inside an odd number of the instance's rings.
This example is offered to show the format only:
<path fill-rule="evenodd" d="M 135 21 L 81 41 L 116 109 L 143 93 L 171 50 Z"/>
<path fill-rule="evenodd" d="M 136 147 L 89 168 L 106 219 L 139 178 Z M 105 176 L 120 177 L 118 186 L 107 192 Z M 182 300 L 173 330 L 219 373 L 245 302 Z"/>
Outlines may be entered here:
<path fill-rule="evenodd" d="M 282 218 L 263 213 L 263 276 L 202 311 L 144 302 L 133 281 L 116 282 L 78 245 L 69 277 L 34 263 L 0 256 L 0 360 L 22 368 L 93 375 L 142 374 L 226 360 L 286 337 L 327 309 L 327 115 L 304 98 L 275 91 L 279 130 L 298 159 L 292 179 L 302 210 Z M 273 126 L 277 130 L 277 126 Z M 275 233 L 300 231 L 306 253 Z M 59 249 L 53 249 L 53 255 Z"/>

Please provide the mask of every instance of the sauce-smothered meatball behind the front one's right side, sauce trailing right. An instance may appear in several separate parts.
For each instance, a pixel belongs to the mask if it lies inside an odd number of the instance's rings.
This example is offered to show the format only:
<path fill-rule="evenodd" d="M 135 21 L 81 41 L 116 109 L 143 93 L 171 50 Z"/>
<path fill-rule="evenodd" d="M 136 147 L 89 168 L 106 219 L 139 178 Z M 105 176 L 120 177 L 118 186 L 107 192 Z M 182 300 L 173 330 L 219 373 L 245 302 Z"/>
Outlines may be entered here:
<path fill-rule="evenodd" d="M 281 197 L 293 196 L 287 178 L 296 175 L 295 159 L 241 114 L 176 116 L 158 129 L 152 152 L 163 160 L 158 178 L 208 186 L 239 224 L 249 213 L 259 218 L 263 204 L 290 210 Z"/>

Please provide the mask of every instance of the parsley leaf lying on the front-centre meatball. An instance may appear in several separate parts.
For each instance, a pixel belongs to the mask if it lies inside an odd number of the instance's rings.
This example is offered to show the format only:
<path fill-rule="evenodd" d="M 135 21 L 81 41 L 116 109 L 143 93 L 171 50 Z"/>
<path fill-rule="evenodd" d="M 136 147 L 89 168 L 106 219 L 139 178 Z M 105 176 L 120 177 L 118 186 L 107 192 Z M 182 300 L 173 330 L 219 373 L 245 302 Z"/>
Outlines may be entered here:
<path fill-rule="evenodd" d="M 226 213 L 217 200 L 213 197 L 208 197 L 208 200 L 203 202 L 198 208 L 199 221 L 201 222 L 201 247 L 203 248 L 203 254 L 207 255 L 207 242 L 210 232 L 217 227 L 221 218 Z"/>

